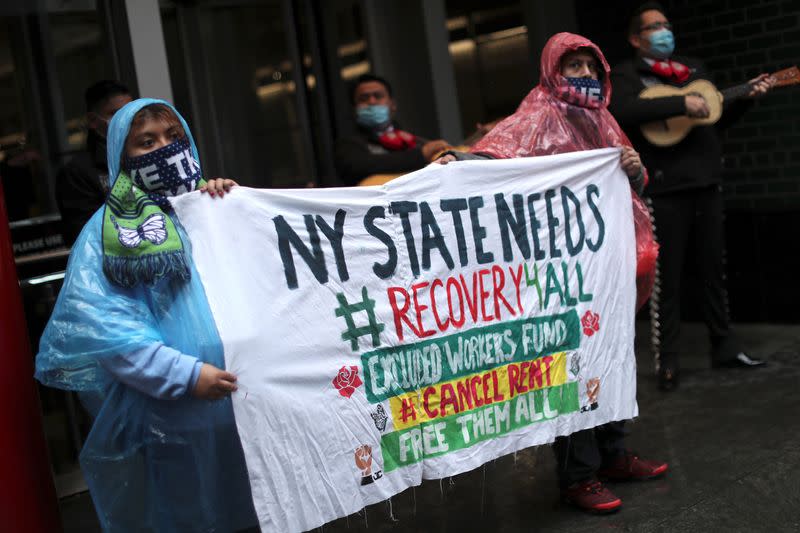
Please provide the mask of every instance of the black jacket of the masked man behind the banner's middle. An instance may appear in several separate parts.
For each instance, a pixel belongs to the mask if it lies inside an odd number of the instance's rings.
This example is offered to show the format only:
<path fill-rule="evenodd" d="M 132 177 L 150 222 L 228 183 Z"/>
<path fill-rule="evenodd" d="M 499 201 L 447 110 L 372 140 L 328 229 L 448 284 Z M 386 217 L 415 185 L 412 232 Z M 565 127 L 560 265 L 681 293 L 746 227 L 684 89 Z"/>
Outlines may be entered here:
<path fill-rule="evenodd" d="M 422 156 L 425 140 L 417 137 L 411 150 L 390 151 L 364 129 L 336 141 L 336 172 L 345 185 L 357 185 L 371 174 L 395 174 L 419 170 L 428 162 Z"/>

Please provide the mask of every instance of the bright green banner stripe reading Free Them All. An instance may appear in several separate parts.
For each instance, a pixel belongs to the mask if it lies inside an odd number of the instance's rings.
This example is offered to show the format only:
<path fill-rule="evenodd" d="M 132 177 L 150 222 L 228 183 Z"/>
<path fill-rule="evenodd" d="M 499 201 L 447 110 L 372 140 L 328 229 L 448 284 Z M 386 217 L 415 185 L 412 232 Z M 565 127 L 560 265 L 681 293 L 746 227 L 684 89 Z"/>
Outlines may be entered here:
<path fill-rule="evenodd" d="M 578 382 L 540 389 L 381 437 L 384 471 L 418 463 L 579 409 Z"/>

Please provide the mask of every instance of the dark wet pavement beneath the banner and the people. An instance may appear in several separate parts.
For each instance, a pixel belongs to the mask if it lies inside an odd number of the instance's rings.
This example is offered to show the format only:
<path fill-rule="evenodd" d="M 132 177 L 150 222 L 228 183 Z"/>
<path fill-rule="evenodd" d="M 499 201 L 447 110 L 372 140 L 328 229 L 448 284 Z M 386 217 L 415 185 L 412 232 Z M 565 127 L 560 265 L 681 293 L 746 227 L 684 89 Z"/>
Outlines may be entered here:
<path fill-rule="evenodd" d="M 549 446 L 426 481 L 317 531 L 800 531 L 800 326 L 739 325 L 758 370 L 712 370 L 701 324 L 685 324 L 681 385 L 659 392 L 637 324 L 640 416 L 628 447 L 668 461 L 662 479 L 609 485 L 623 500 L 594 516 L 559 503 Z M 641 346 L 639 346 L 641 344 Z M 66 533 L 98 531 L 83 494 L 62 500 Z"/>

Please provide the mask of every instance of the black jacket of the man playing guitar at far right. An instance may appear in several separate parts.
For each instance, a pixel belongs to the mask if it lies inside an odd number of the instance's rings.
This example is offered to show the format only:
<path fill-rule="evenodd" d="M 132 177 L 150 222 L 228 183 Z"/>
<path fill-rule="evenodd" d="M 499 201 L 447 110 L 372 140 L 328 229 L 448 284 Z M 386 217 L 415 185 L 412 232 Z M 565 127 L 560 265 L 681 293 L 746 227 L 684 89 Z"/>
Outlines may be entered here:
<path fill-rule="evenodd" d="M 703 64 L 689 57 L 673 57 L 692 71 L 686 85 L 697 79 L 712 81 Z M 726 103 L 722 118 L 713 126 L 693 128 L 678 144 L 654 146 L 642 136 L 639 126 L 646 122 L 684 115 L 683 96 L 643 99 L 639 93 L 649 85 L 678 86 L 656 77 L 641 58 L 628 60 L 611 70 L 613 93 L 609 111 L 625 130 L 650 173 L 645 194 L 656 196 L 674 191 L 717 184 L 722 178 L 722 143 L 719 132 L 741 116 L 748 104 Z"/>

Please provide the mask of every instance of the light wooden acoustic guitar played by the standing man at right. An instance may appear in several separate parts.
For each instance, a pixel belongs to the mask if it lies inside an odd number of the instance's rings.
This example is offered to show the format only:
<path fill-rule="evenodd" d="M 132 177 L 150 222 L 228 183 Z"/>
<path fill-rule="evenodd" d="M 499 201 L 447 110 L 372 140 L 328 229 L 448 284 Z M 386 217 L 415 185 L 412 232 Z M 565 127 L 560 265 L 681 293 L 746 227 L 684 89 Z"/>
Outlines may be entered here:
<path fill-rule="evenodd" d="M 790 67 L 770 75 L 775 79 L 775 87 L 784 87 L 800 83 L 800 71 Z M 689 94 L 702 96 L 708 105 L 708 117 L 692 118 L 685 115 L 657 120 L 642 124 L 642 135 L 650 144 L 656 146 L 672 146 L 678 144 L 695 126 L 707 126 L 716 123 L 722 116 L 722 103 L 746 96 L 752 90 L 750 83 L 736 85 L 720 92 L 714 84 L 707 80 L 695 80 L 685 87 L 671 85 L 652 85 L 643 90 L 640 98 L 662 98 L 664 96 L 686 96 Z"/>

